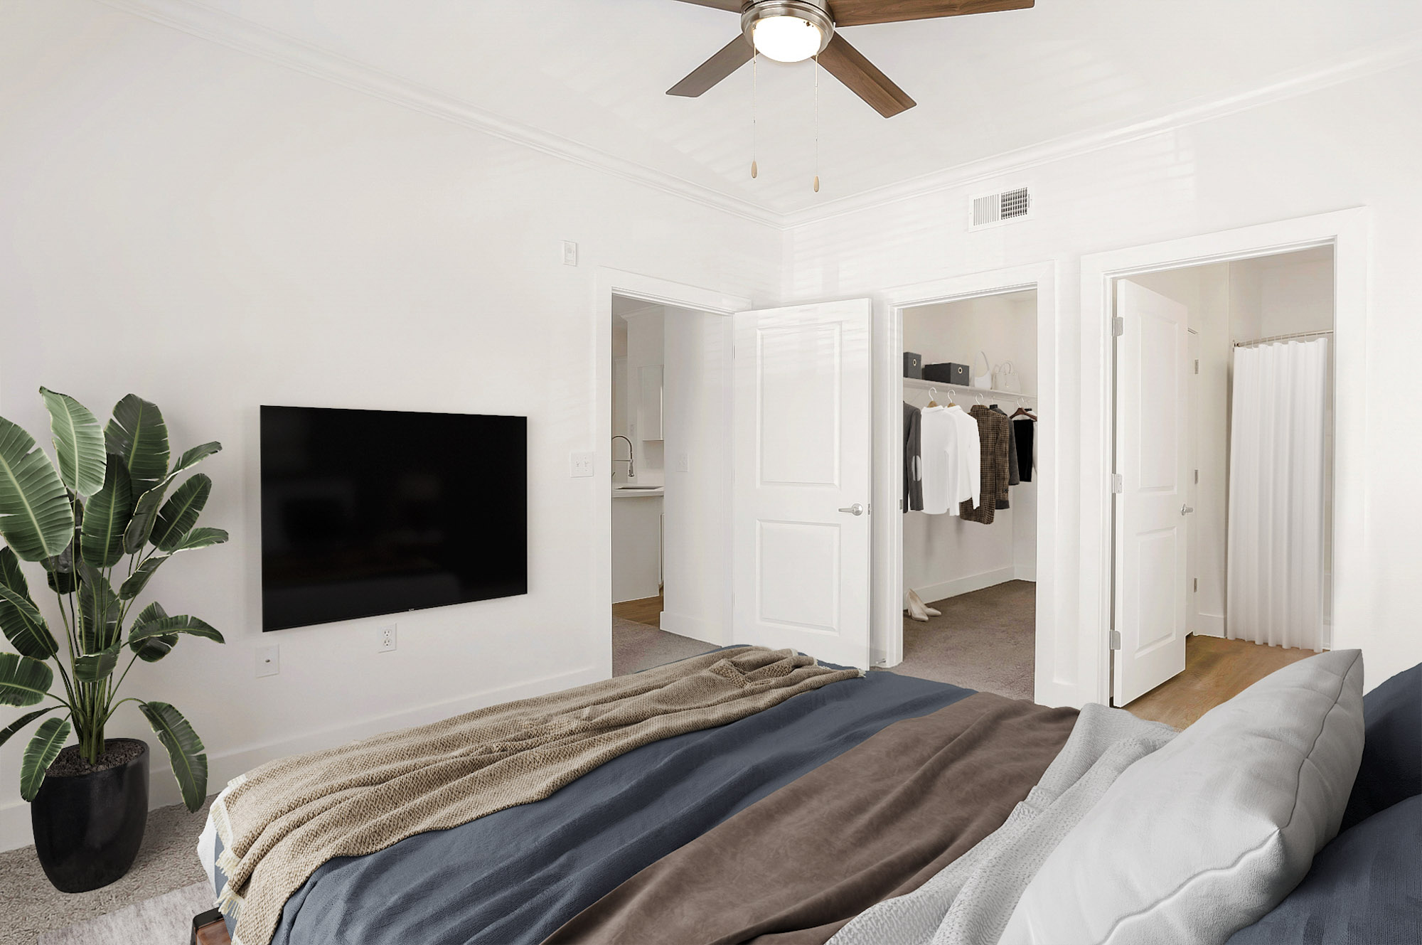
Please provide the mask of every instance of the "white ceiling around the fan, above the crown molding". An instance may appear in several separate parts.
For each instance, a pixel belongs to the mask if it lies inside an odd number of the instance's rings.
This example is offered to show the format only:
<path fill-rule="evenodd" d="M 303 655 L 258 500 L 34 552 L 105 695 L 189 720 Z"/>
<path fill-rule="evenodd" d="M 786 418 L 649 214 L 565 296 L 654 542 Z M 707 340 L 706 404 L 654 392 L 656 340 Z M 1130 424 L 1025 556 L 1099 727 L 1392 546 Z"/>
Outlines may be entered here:
<path fill-rule="evenodd" d="M 196 0 L 195 0 L 196 1 Z M 774 213 L 1239 95 L 1422 36 L 1416 0 L 1038 0 L 1010 13 L 853 27 L 917 102 L 880 118 L 812 64 L 762 61 L 701 98 L 664 91 L 734 14 L 675 0 L 202 0 L 515 124 Z"/>

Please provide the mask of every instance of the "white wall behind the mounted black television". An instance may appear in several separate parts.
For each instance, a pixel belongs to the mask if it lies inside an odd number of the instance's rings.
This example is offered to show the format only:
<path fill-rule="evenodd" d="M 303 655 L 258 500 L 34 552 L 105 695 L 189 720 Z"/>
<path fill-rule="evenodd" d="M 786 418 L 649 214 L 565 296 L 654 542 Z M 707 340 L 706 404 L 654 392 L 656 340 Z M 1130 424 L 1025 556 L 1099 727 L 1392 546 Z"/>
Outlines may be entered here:
<path fill-rule="evenodd" d="M 228 645 L 125 683 L 192 720 L 213 790 L 610 673 L 594 268 L 774 300 L 778 232 L 91 0 L 0 6 L 0 413 L 38 433 L 40 384 L 105 413 L 132 390 L 176 444 L 226 447 L 205 521 L 232 544 L 154 588 Z M 528 596 L 402 615 L 392 653 L 373 621 L 262 635 L 259 404 L 526 414 Z M 256 679 L 264 643 L 282 672 Z M 109 732 L 156 744 L 131 707 Z M 0 848 L 30 843 L 24 743 L 0 750 Z M 155 761 L 154 804 L 176 798 Z"/>

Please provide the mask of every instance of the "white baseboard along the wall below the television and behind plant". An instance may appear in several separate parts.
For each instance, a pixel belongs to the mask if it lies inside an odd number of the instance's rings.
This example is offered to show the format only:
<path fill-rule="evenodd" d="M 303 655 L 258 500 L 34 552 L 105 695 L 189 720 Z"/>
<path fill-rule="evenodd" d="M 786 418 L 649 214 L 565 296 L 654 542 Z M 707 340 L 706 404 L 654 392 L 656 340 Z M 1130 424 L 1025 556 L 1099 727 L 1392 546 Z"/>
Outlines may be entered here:
<path fill-rule="evenodd" d="M 354 741 L 357 739 L 368 739 L 370 736 L 380 734 L 383 732 L 421 726 L 441 719 L 448 719 L 449 716 L 456 716 L 462 712 L 472 712 L 475 709 L 483 709 L 485 706 L 492 706 L 501 702 L 512 702 L 515 699 L 542 696 L 545 693 L 557 692 L 559 689 L 570 689 L 573 686 L 594 683 L 606 677 L 607 675 L 596 666 L 584 666 L 566 673 L 555 673 L 552 676 L 530 679 L 513 686 L 485 689 L 466 696 L 432 702 L 384 716 L 371 716 L 370 719 L 363 719 L 344 726 L 307 732 L 290 739 L 240 746 L 225 751 L 209 751 L 208 790 L 210 793 L 216 793 L 228 781 L 243 771 L 250 771 L 259 764 L 264 764 L 289 754 L 319 751 L 321 749 L 346 744 L 347 741 Z M 158 749 L 156 739 L 149 741 L 149 747 Z M 176 804 L 182 800 L 182 796 L 178 793 L 178 784 L 173 781 L 172 774 L 166 769 L 168 757 L 159 750 L 152 759 L 148 788 L 149 810 Z M 33 843 L 34 833 L 30 827 L 30 806 L 20 800 L 9 804 L 0 804 L 0 851 L 28 847 Z M 196 843 L 198 838 L 193 837 L 195 850 Z"/>

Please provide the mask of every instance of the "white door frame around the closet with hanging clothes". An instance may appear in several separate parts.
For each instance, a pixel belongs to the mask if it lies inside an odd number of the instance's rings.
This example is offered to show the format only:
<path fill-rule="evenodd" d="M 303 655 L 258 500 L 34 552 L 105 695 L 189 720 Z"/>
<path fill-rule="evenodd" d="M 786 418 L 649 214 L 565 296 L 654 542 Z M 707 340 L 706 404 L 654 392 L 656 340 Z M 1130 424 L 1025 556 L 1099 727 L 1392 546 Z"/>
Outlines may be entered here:
<path fill-rule="evenodd" d="M 875 297 L 875 508 L 870 659 L 876 666 L 903 660 L 903 310 L 1008 292 L 1037 292 L 1037 404 L 1047 423 L 1038 427 L 1037 468 L 1045 488 L 1037 494 L 1037 656 L 1034 697 L 1045 704 L 1072 702 L 1069 689 L 1054 683 L 1057 633 L 1072 632 L 1062 621 L 1057 585 L 1057 263 L 1042 262 L 937 279 L 880 292 Z M 1069 650 L 1068 650 L 1069 652 Z"/>

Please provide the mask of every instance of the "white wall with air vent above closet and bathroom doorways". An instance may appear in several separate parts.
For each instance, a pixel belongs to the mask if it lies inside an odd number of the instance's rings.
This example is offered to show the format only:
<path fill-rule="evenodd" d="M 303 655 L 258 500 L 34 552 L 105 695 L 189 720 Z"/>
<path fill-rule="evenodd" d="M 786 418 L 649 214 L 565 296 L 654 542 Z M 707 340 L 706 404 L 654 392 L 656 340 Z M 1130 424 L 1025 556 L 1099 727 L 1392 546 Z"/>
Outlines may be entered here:
<path fill-rule="evenodd" d="M 1081 633 L 1084 595 L 1099 588 L 1081 581 L 1082 482 L 1079 443 L 1085 435 L 1082 364 L 1095 353 L 1081 344 L 1081 258 L 1251 223 L 1290 219 L 1348 206 L 1372 209 L 1371 310 L 1364 332 L 1368 414 L 1388 416 L 1391 428 L 1422 428 L 1422 396 L 1412 361 L 1422 350 L 1422 178 L 1413 155 L 1422 149 L 1422 64 L 1381 64 L 1344 84 L 1287 95 L 1253 108 L 1207 118 L 1185 115 L 1176 125 L 1142 130 L 1129 141 L 1082 145 L 1064 157 L 1031 155 L 1010 172 L 1005 161 L 966 168 L 963 184 L 893 204 L 846 212 L 796 226 L 786 245 L 786 302 L 879 295 L 886 287 L 1057 260 L 1055 448 L 1059 518 L 1055 545 L 1044 548 L 1059 565 L 1049 592 L 1039 588 L 1055 635 L 1038 665 L 1057 692 L 1099 666 L 1099 628 Z M 974 176 L 980 174 L 980 176 Z M 1031 182 L 1035 218 L 968 233 L 963 223 L 971 194 Z M 828 253 L 826 248 L 842 248 Z M 877 306 L 879 337 L 887 307 Z M 1340 326 L 1341 329 L 1342 326 Z M 1096 418 L 1092 417 L 1095 424 Z M 1335 628 L 1338 646 L 1361 646 L 1368 685 L 1422 660 L 1416 621 L 1416 574 L 1422 552 L 1422 492 L 1411 488 L 1418 445 L 1399 445 L 1381 431 L 1367 435 L 1364 481 L 1348 488 L 1367 495 L 1368 561 L 1355 574 L 1368 588 L 1371 619 Z M 1089 612 L 1089 608 L 1086 608 Z M 876 613 L 882 608 L 876 606 Z"/>

